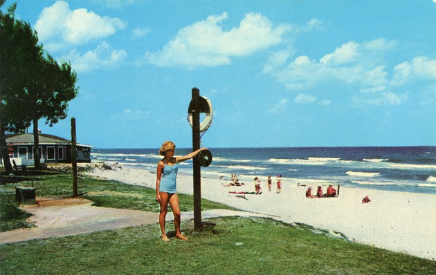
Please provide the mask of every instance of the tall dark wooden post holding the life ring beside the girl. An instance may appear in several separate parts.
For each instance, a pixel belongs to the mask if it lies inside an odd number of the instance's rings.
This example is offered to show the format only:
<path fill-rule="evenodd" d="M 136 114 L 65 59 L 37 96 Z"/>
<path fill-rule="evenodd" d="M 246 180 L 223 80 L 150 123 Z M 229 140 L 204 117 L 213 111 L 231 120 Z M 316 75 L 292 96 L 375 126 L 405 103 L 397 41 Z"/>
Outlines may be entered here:
<path fill-rule="evenodd" d="M 192 151 L 200 149 L 200 90 L 192 88 Z M 201 167 L 197 158 L 193 159 L 194 176 L 194 230 L 201 231 Z"/>

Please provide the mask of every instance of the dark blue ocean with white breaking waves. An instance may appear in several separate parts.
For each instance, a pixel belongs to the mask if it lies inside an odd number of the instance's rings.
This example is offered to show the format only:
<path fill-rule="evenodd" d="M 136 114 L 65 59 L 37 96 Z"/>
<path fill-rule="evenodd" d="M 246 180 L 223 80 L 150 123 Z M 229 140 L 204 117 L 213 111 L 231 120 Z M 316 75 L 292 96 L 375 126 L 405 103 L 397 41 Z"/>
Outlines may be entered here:
<path fill-rule="evenodd" d="M 251 184 L 278 174 L 283 184 L 311 187 L 340 183 L 341 187 L 436 194 L 436 146 L 322 147 L 322 148 L 217 148 L 201 176 Z M 176 155 L 190 149 L 176 149 Z M 118 162 L 127 167 L 156 171 L 158 149 L 93 149 L 92 162 Z M 192 160 L 179 173 L 192 174 Z"/>

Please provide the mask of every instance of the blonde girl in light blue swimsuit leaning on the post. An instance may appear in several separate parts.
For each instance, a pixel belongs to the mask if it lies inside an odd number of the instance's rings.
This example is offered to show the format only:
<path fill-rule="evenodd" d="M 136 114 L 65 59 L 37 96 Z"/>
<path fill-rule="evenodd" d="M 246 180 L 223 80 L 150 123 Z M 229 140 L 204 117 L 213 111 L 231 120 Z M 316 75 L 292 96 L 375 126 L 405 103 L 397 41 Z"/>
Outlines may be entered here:
<path fill-rule="evenodd" d="M 161 206 L 161 212 L 159 214 L 159 225 L 161 226 L 161 240 L 169 242 L 165 231 L 165 218 L 167 216 L 168 204 L 172 209 L 174 215 L 174 227 L 176 228 L 176 238 L 180 240 L 188 240 L 185 236 L 182 236 L 180 231 L 180 207 L 179 197 L 176 193 L 176 178 L 177 171 L 179 171 L 179 162 L 190 160 L 194 158 L 200 151 L 207 148 L 201 148 L 197 151 L 184 155 L 183 157 L 175 158 L 174 151 L 176 150 L 176 144 L 170 141 L 163 142 L 161 149 L 159 149 L 159 155 L 163 156 L 163 159 L 158 162 L 156 171 L 156 201 Z"/>

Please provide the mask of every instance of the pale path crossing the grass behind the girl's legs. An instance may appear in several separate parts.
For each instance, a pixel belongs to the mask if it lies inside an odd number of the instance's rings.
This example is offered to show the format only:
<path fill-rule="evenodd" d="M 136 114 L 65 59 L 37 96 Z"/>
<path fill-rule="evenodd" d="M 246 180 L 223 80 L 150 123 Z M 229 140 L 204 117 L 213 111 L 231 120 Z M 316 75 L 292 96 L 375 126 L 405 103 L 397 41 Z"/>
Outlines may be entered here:
<path fill-rule="evenodd" d="M 37 199 L 37 202 L 37 205 L 22 206 L 24 211 L 33 214 L 33 216 L 28 218 L 28 222 L 34 222 L 36 227 L 0 232 L 0 244 L 136 227 L 158 222 L 158 213 L 93 207 L 90 200 L 82 198 L 67 198 L 63 200 Z M 183 212 L 181 216 L 183 220 L 194 218 L 192 211 Z M 201 213 L 202 219 L 218 216 L 265 215 L 222 209 L 203 211 Z M 172 220 L 171 213 L 167 215 L 167 220 Z"/>

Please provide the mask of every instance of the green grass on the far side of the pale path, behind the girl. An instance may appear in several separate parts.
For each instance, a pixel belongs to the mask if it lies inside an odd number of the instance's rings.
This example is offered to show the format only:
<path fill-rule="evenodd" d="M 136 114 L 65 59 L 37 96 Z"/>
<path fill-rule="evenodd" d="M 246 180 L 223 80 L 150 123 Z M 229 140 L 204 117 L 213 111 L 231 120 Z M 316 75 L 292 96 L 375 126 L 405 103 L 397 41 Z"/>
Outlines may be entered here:
<path fill-rule="evenodd" d="M 21 227 L 30 227 L 26 223 L 29 214 L 24 213 L 15 202 L 15 187 L 23 186 L 37 188 L 37 196 L 42 198 L 70 198 L 73 194 L 73 180 L 69 173 L 55 171 L 28 171 L 18 183 L 0 185 L 0 231 L 8 231 Z M 33 179 L 33 180 L 32 180 Z M 156 190 L 113 180 L 100 180 L 82 176 L 78 180 L 78 193 L 81 198 L 93 201 L 98 207 L 113 207 L 120 209 L 136 209 L 143 211 L 159 211 L 156 202 Z M 181 211 L 192 211 L 193 197 L 179 194 Z M 210 200 L 201 200 L 201 209 L 234 209 Z M 171 211 L 171 208 L 169 208 Z"/>

